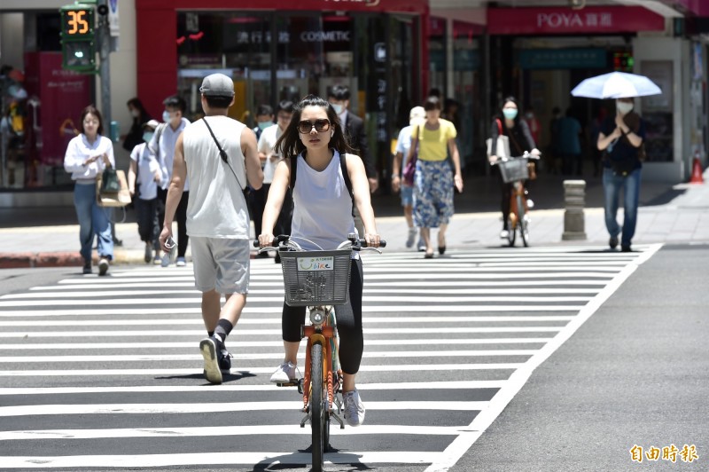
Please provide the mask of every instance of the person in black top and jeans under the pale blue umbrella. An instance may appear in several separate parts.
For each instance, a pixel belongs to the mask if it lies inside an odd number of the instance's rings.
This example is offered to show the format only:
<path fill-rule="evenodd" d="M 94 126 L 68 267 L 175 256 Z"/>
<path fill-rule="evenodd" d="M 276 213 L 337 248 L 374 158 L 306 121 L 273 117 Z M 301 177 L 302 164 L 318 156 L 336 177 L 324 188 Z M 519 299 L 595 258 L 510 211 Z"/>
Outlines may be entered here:
<path fill-rule="evenodd" d="M 633 98 L 618 98 L 616 114 L 605 119 L 596 146 L 604 151 L 605 227 L 611 235 L 608 245 L 630 252 L 635 235 L 637 206 L 640 198 L 640 171 L 645 159 L 643 140 L 645 123 L 633 111 Z M 616 219 L 620 191 L 623 191 L 623 227 Z"/>

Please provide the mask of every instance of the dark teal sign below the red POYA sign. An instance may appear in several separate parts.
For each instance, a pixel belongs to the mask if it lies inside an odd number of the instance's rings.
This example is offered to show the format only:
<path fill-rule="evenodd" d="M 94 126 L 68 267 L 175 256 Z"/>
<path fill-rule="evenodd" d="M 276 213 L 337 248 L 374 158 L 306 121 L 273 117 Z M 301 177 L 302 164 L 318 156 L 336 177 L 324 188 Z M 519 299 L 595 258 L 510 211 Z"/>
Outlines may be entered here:
<path fill-rule="evenodd" d="M 602 48 L 527 49 L 519 51 L 523 69 L 598 69 L 606 67 Z"/>

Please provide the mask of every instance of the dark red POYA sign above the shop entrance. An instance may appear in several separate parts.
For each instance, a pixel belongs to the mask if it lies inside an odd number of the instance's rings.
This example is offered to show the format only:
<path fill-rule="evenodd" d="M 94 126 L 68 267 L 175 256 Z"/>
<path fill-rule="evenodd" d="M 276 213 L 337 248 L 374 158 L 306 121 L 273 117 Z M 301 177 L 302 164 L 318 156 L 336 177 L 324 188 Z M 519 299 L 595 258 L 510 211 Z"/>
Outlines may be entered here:
<path fill-rule="evenodd" d="M 642 6 L 488 8 L 490 35 L 578 35 L 662 31 L 665 19 Z"/>

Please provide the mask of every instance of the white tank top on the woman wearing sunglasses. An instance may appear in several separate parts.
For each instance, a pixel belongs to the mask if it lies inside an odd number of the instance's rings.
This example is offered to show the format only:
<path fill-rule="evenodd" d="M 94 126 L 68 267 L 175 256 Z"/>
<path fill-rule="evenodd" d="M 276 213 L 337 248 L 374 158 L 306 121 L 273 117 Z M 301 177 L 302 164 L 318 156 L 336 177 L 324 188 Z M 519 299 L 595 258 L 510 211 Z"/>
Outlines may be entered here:
<path fill-rule="evenodd" d="M 297 157 L 291 235 L 317 245 L 296 239 L 303 249 L 336 249 L 339 243 L 347 240 L 347 234 L 356 233 L 352 197 L 342 176 L 339 153 L 335 151 L 334 154 L 322 172 L 311 168 L 302 153 Z"/>

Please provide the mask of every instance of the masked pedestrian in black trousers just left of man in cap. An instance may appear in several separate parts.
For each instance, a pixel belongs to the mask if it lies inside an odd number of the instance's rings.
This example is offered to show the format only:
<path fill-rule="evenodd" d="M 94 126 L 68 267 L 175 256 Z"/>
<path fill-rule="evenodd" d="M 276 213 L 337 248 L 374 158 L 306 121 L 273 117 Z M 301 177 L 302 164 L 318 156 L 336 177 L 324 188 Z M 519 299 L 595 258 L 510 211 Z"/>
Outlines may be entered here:
<path fill-rule="evenodd" d="M 172 178 L 173 161 L 175 159 L 175 143 L 177 138 L 183 133 L 184 127 L 190 124 L 190 120 L 184 117 L 187 104 L 182 97 L 173 95 L 165 98 L 162 102 L 165 111 L 162 112 L 163 123 L 155 130 L 148 146 L 155 154 L 160 165 L 167 169 L 168 182 Z M 187 253 L 187 201 L 190 197 L 190 182 L 185 180 L 183 196 L 175 211 L 175 222 L 177 223 L 177 267 L 186 265 L 184 255 Z M 160 187 L 158 190 L 160 199 L 159 212 L 160 221 L 165 219 L 165 201 L 168 199 L 168 189 Z M 162 257 L 161 265 L 168 267 L 172 263 L 169 253 Z"/>

